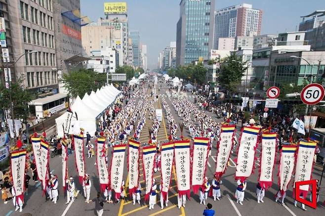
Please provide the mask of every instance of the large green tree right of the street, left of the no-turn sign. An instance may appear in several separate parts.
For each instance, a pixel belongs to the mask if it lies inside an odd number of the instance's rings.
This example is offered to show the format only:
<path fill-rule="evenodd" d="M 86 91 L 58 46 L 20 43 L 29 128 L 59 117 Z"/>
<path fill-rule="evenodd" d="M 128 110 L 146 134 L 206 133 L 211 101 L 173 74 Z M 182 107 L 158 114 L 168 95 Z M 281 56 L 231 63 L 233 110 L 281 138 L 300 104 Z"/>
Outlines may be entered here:
<path fill-rule="evenodd" d="M 235 53 L 221 59 L 219 83 L 228 93 L 234 93 L 241 86 L 242 76 L 247 70 L 241 58 Z"/>

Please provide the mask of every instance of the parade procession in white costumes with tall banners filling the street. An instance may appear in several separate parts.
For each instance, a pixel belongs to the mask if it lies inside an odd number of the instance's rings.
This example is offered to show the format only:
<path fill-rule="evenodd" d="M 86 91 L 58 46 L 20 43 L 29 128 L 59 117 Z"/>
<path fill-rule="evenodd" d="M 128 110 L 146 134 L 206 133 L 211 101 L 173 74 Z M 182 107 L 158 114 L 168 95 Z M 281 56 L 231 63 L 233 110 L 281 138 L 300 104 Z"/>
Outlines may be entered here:
<path fill-rule="evenodd" d="M 215 118 L 191 102 L 188 92 L 177 92 L 157 75 L 127 90 L 103 87 L 97 90 L 102 99 L 106 88 L 115 92 L 114 103 L 94 122 L 84 117 L 89 113 L 81 110 L 89 105 L 79 97 L 56 121 L 58 157 L 52 157 L 54 146 L 45 132 L 31 136 L 32 153 L 24 148 L 11 152 L 4 178 L 10 184 L 11 212 L 29 209 L 31 196 L 54 211 L 51 215 L 87 215 L 91 202 L 101 206 L 97 215 L 119 216 L 201 215 L 212 208 L 217 215 L 243 216 L 249 215 L 247 208 L 284 215 L 323 211 L 295 198 L 311 202 L 314 188 L 295 188 L 295 182 L 317 179 L 317 205 L 324 202 L 314 163 L 316 142 L 292 138 L 280 147 L 272 124 L 251 118 L 241 128 L 230 104 L 223 119 Z M 9 194 L 5 188 L 2 194 Z"/>

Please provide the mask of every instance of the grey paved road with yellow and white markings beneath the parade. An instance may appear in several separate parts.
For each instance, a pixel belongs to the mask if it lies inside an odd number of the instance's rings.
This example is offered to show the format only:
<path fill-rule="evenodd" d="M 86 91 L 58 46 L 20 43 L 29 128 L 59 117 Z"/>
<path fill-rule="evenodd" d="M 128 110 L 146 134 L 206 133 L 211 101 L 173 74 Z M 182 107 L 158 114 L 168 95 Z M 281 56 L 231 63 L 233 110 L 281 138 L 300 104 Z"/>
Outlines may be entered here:
<path fill-rule="evenodd" d="M 164 84 L 163 84 L 164 85 Z M 164 86 L 165 87 L 165 86 Z M 164 89 L 164 88 L 162 88 Z M 150 92 L 150 90 L 148 91 Z M 157 91 L 158 92 L 158 91 Z M 158 92 L 161 94 L 161 97 L 165 97 L 166 93 L 165 90 L 161 90 Z M 164 95 L 164 96 L 163 96 Z M 149 97 L 150 99 L 150 97 Z M 168 99 L 165 98 L 166 102 L 168 103 L 172 114 L 176 121 L 181 122 L 178 115 L 176 114 L 173 106 L 172 106 L 172 98 Z M 193 99 L 192 99 L 193 100 Z M 155 108 L 161 108 L 161 99 L 158 100 L 157 103 L 154 104 Z M 163 108 L 162 108 L 163 109 Z M 208 113 L 208 112 L 207 112 Z M 209 115 L 211 113 L 208 113 Z M 148 130 L 147 127 L 151 127 L 152 121 L 148 118 L 147 112 L 147 123 L 145 128 L 143 129 L 140 137 L 141 142 L 148 141 Z M 220 120 L 217 120 L 220 122 Z M 166 134 L 168 130 L 165 128 L 166 117 L 165 117 L 165 110 L 163 109 L 163 121 L 161 124 L 161 129 L 158 133 L 158 140 L 163 141 L 166 139 Z M 180 132 L 178 132 L 178 137 L 180 136 Z M 187 129 L 184 129 L 184 136 L 189 137 L 189 132 Z M 237 132 L 237 136 L 239 136 L 239 132 Z M 111 149 L 110 149 L 111 150 Z M 213 178 L 214 169 L 215 169 L 215 159 L 216 159 L 216 143 L 213 143 L 212 148 L 212 156 L 208 158 L 207 163 L 207 170 L 206 175 L 211 179 Z M 257 157 L 259 157 L 260 153 L 260 146 L 257 148 Z M 234 193 L 236 191 L 236 181 L 234 180 L 235 175 L 235 163 L 233 162 L 236 158 L 235 154 L 231 154 L 230 166 L 228 167 L 226 173 L 223 175 L 222 180 L 223 184 L 221 185 L 221 200 L 220 201 L 213 201 L 213 199 L 208 198 L 207 202 L 210 202 L 213 205 L 213 209 L 216 211 L 217 216 L 274 216 L 274 215 L 281 215 L 281 216 L 316 216 L 316 215 L 324 215 L 324 206 L 320 205 L 316 210 L 313 210 L 309 207 L 307 211 L 303 211 L 300 208 L 295 208 L 293 206 L 293 199 L 292 199 L 292 185 L 290 184 L 289 191 L 287 192 L 287 198 L 285 200 L 286 205 L 282 206 L 279 203 L 274 201 L 274 194 L 278 190 L 278 178 L 276 174 L 278 173 L 278 164 L 275 166 L 275 170 L 273 171 L 273 180 L 274 183 L 272 187 L 266 191 L 264 203 L 257 204 L 256 202 L 256 183 L 258 179 L 258 166 L 259 161 L 256 161 L 257 168 L 255 169 L 255 173 L 252 174 L 247 179 L 247 189 L 245 192 L 245 199 L 244 205 L 241 206 L 236 203 L 234 198 Z M 277 154 L 277 161 L 279 161 L 279 154 Z M 99 191 L 99 182 L 98 182 L 98 174 L 97 174 L 97 167 L 94 165 L 95 157 L 93 158 L 85 158 L 86 160 L 86 172 L 90 174 L 91 181 L 92 181 L 92 188 L 90 192 L 90 197 L 93 198 L 96 196 L 97 191 Z M 109 159 L 110 161 L 110 159 Z M 141 163 L 141 162 L 140 162 Z M 125 161 L 125 167 L 123 171 L 123 179 L 127 182 L 127 166 Z M 142 163 L 141 165 L 142 166 Z M 34 183 L 31 181 L 30 188 L 28 192 L 28 196 L 25 197 L 25 207 L 23 209 L 23 213 L 31 213 L 33 216 L 61 216 L 63 213 L 66 213 L 67 216 L 93 216 L 95 215 L 94 204 L 86 204 L 84 203 L 83 194 L 82 194 L 82 187 L 79 182 L 76 181 L 76 187 L 78 190 L 81 191 L 78 199 L 75 200 L 71 205 L 65 205 L 66 197 L 64 197 L 64 192 L 62 189 L 61 183 L 61 158 L 55 157 L 50 158 L 50 169 L 53 170 L 55 174 L 58 175 L 59 178 L 59 200 L 56 205 L 52 202 L 47 201 L 45 202 L 44 196 L 42 196 L 41 185 L 39 183 Z M 141 167 L 142 168 L 142 167 Z M 74 154 L 71 155 L 68 159 L 68 170 L 69 175 L 75 177 L 77 180 L 77 172 L 75 166 L 75 158 Z M 141 169 L 140 169 L 141 170 Z M 313 171 L 313 177 L 320 179 L 321 176 L 321 168 L 319 166 L 315 166 Z M 142 172 L 140 172 L 141 174 Z M 160 181 L 160 172 L 154 174 L 154 177 L 157 181 Z M 141 200 L 141 205 L 136 204 L 135 206 L 132 205 L 130 199 L 127 198 L 125 201 L 122 200 L 118 204 L 105 204 L 104 206 L 104 215 L 119 215 L 119 216 L 144 216 L 144 215 L 160 215 L 160 216 L 179 216 L 179 215 L 188 215 L 188 216 L 200 216 L 202 215 L 203 209 L 205 207 L 200 205 L 199 203 L 199 196 L 197 194 L 191 193 L 191 200 L 187 202 L 186 208 L 181 208 L 180 210 L 177 209 L 177 191 L 176 191 L 176 182 L 174 175 L 172 176 L 171 182 L 171 189 L 169 192 L 169 205 L 164 210 L 161 210 L 160 203 L 159 203 L 159 194 L 157 196 L 157 205 L 155 205 L 154 210 L 148 209 L 147 203 L 143 203 L 143 199 Z M 143 176 L 140 177 L 140 181 L 142 181 L 142 188 L 144 195 L 144 183 L 143 183 Z M 126 184 L 127 185 L 127 184 Z M 322 188 L 325 187 L 325 181 L 322 183 Z M 325 190 L 321 190 L 321 201 L 325 200 Z M 2 202 L 0 203 L 1 215 L 5 216 L 20 216 L 20 213 L 12 212 L 14 209 L 12 202 L 4 205 Z"/>

